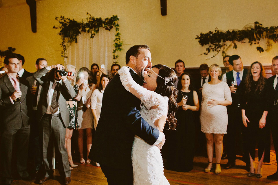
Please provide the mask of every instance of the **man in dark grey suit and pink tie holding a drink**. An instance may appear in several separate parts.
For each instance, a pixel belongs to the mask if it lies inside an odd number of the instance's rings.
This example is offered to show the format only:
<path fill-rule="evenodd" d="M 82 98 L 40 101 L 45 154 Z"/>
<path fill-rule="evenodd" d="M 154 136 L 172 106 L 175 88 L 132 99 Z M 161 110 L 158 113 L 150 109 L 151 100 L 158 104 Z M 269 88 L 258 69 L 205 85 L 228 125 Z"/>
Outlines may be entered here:
<path fill-rule="evenodd" d="M 4 59 L 8 73 L 0 78 L 1 112 L 1 184 L 12 182 L 12 150 L 17 145 L 17 171 L 22 179 L 30 180 L 26 171 L 29 142 L 29 117 L 26 95 L 28 82 L 18 77 L 19 59 L 10 54 Z"/>

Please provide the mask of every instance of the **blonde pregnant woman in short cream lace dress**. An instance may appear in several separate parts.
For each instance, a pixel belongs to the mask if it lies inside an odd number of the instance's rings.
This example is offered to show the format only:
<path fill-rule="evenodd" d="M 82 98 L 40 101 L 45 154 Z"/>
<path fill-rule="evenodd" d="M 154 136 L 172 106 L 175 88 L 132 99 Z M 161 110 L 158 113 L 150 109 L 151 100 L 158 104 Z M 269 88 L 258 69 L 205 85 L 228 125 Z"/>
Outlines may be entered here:
<path fill-rule="evenodd" d="M 209 165 L 204 169 L 210 172 L 215 144 L 215 174 L 221 173 L 220 160 L 223 153 L 223 136 L 227 134 L 228 114 L 226 106 L 232 104 L 231 91 L 226 82 L 218 79 L 221 68 L 217 64 L 209 67 L 211 81 L 205 83 L 202 90 L 201 131 L 206 135 L 206 150 Z"/>

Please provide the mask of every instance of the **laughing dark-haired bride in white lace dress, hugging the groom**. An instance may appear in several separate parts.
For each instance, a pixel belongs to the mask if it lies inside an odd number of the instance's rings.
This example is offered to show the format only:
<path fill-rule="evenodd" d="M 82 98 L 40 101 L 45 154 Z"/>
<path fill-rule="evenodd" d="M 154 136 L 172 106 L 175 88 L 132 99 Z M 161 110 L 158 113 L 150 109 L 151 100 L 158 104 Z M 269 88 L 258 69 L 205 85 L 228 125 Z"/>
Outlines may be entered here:
<path fill-rule="evenodd" d="M 129 68 L 118 71 L 126 90 L 138 97 L 143 105 L 141 116 L 149 125 L 163 131 L 167 121 L 170 129 L 176 127 L 175 111 L 177 110 L 175 82 L 177 76 L 168 66 L 153 66 L 144 75 L 143 87 L 134 82 Z M 168 115 L 168 116 L 167 116 Z M 163 161 L 159 148 L 149 145 L 135 136 L 132 147 L 133 184 L 164 185 L 169 184 L 163 173 Z"/>

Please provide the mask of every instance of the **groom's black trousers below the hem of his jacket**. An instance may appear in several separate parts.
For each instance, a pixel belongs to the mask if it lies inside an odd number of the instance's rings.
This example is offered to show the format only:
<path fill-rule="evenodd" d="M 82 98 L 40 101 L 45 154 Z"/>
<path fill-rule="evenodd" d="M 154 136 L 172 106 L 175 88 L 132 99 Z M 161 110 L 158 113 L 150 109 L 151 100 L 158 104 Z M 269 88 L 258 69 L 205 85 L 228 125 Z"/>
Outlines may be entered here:
<path fill-rule="evenodd" d="M 116 169 L 100 164 L 109 185 L 133 185 L 133 169 Z"/>

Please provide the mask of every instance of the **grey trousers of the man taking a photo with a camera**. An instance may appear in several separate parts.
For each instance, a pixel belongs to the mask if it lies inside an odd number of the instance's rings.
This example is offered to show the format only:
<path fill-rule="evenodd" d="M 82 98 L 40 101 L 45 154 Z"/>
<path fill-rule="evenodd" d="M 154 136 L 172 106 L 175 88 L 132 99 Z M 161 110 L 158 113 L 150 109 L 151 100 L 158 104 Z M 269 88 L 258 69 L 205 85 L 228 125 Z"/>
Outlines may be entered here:
<path fill-rule="evenodd" d="M 55 147 L 55 160 L 58 162 L 58 171 L 62 177 L 70 177 L 67 149 L 65 148 L 66 128 L 61 122 L 60 114 L 44 114 L 41 119 L 41 134 L 43 140 L 42 175 L 53 175 L 52 156 Z"/>

